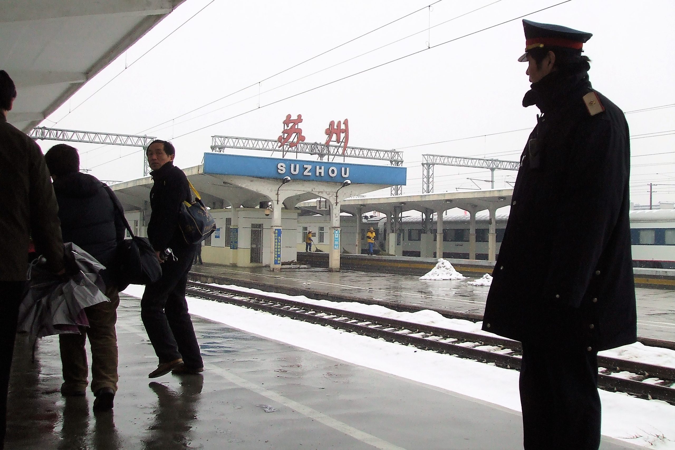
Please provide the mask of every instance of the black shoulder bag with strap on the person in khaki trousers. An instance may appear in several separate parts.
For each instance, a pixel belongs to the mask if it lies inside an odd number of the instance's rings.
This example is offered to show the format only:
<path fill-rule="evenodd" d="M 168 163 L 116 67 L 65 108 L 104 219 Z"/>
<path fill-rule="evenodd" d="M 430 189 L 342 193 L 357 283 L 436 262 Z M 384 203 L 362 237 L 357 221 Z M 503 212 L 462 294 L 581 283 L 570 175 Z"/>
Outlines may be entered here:
<path fill-rule="evenodd" d="M 115 206 L 115 211 L 121 216 L 124 227 L 131 235 L 131 239 L 117 244 L 114 264 L 119 290 L 125 289 L 130 284 L 147 285 L 159 281 L 162 277 L 162 268 L 155 249 L 146 237 L 134 235 L 113 190 L 109 186 L 105 186 L 105 190 Z"/>

